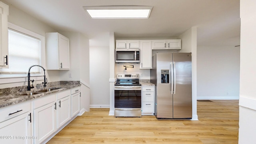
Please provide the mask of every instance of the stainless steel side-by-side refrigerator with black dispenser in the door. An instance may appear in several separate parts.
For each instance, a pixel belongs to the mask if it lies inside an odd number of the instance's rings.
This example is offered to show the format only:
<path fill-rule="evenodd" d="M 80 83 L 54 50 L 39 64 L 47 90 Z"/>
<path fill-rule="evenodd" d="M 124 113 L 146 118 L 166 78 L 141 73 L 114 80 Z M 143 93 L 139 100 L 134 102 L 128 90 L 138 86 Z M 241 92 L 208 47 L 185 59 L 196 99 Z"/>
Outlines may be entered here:
<path fill-rule="evenodd" d="M 156 118 L 192 118 L 191 53 L 157 53 L 150 82 L 156 85 Z"/>

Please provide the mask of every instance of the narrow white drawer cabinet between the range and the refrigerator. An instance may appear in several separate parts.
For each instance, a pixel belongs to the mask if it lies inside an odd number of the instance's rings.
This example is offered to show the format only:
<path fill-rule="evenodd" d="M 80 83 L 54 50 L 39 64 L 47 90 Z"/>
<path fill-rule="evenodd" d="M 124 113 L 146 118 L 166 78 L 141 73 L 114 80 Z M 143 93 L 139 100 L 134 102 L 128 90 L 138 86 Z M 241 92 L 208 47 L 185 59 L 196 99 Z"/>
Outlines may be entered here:
<path fill-rule="evenodd" d="M 142 115 L 154 115 L 155 87 L 142 86 Z"/>

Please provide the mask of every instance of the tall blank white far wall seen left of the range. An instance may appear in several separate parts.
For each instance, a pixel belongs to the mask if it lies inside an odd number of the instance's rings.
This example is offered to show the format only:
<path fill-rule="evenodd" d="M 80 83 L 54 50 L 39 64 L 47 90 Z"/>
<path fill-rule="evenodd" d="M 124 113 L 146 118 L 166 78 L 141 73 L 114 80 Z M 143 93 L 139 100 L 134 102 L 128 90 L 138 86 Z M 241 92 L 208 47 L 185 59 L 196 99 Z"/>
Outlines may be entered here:
<path fill-rule="evenodd" d="M 110 44 L 109 33 L 90 38 L 90 107 L 110 105 Z"/>

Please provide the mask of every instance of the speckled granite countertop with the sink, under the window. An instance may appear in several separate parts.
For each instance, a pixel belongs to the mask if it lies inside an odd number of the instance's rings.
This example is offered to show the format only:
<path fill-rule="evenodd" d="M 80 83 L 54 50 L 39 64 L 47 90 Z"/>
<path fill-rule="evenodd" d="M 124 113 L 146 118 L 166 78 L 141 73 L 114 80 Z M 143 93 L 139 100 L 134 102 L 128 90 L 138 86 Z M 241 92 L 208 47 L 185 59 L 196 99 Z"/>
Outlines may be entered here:
<path fill-rule="evenodd" d="M 60 92 L 63 90 L 67 90 L 70 88 L 74 88 L 76 86 L 80 86 L 80 81 L 60 81 L 60 82 L 49 82 L 46 87 L 42 87 L 40 84 L 37 85 L 34 90 L 26 91 L 26 86 L 21 87 L 13 87 L 13 88 L 4 88 L 0 89 L 0 108 L 9 106 L 12 104 L 17 104 L 19 102 L 25 102 L 27 100 L 31 100 L 34 98 L 40 98 L 42 96 L 47 96 L 49 94 L 53 94 L 56 92 Z M 25 88 L 25 89 L 24 89 Z M 52 90 L 49 92 L 42 92 L 40 94 L 33 95 L 22 95 L 30 92 L 37 92 L 39 90 L 48 89 L 48 88 L 58 88 L 56 90 Z"/>

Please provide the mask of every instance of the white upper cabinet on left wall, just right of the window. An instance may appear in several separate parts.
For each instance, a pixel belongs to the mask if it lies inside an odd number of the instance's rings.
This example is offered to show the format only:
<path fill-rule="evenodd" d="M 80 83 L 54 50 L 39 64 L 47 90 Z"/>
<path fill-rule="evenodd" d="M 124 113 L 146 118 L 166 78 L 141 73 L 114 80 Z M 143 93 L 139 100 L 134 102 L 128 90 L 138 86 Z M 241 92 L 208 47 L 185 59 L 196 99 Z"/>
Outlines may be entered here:
<path fill-rule="evenodd" d="M 46 33 L 46 67 L 47 70 L 69 70 L 69 39 L 58 32 Z"/>

